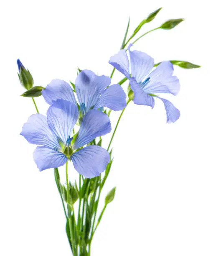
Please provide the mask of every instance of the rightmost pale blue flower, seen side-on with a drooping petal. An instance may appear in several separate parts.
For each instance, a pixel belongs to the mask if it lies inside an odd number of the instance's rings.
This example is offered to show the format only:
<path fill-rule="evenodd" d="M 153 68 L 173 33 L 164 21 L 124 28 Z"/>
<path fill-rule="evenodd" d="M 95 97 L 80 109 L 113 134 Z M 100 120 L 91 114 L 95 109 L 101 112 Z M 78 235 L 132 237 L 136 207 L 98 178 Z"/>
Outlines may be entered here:
<path fill-rule="evenodd" d="M 177 95 L 180 90 L 180 83 L 177 77 L 173 76 L 173 65 L 170 61 L 163 61 L 152 72 L 154 59 L 141 51 L 131 51 L 129 45 L 129 59 L 126 50 L 119 51 L 112 56 L 109 63 L 119 70 L 129 79 L 129 84 L 134 92 L 134 103 L 137 105 L 147 105 L 154 108 L 155 99 L 162 100 L 165 106 L 167 123 L 174 123 L 180 117 L 180 111 L 164 98 L 156 93 L 171 93 Z"/>

